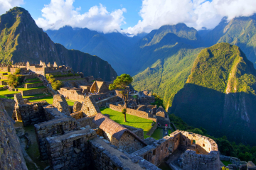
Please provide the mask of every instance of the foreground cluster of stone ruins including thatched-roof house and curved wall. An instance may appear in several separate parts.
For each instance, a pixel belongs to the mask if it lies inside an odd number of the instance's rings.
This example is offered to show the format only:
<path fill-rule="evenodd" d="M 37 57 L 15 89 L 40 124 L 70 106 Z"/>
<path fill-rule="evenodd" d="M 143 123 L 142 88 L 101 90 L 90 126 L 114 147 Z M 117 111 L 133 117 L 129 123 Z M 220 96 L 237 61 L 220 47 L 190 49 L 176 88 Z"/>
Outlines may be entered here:
<path fill-rule="evenodd" d="M 24 126 L 34 125 L 40 157 L 50 169 L 159 169 L 166 159 L 176 169 L 220 169 L 218 146 L 210 138 L 176 130 L 161 140 L 144 140 L 142 129 L 102 115 L 92 96 L 76 103 L 75 113 L 61 95 L 53 105 L 22 100 L 16 96 L 16 111 Z"/>

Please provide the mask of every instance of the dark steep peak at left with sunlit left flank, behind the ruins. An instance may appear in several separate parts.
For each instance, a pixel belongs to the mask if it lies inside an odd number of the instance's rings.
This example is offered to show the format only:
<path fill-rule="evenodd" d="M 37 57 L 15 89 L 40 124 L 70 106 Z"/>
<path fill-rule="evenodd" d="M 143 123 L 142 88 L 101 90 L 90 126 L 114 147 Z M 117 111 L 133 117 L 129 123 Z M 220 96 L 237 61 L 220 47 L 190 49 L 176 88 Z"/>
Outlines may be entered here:
<path fill-rule="evenodd" d="M 12 8 L 0 16 L 0 60 L 1 62 L 56 62 L 65 64 L 85 76 L 93 75 L 111 81 L 117 73 L 111 65 L 78 50 L 67 50 L 55 44 L 41 28 L 36 26 L 24 8 Z M 65 36 L 63 36 L 65 37 Z"/>

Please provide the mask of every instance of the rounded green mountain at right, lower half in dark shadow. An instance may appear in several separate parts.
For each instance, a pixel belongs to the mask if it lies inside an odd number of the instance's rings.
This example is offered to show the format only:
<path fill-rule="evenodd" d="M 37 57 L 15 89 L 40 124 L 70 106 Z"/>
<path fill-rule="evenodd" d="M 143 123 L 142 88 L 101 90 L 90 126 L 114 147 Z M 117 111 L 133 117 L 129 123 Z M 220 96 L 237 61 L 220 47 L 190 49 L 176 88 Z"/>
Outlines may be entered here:
<path fill-rule="evenodd" d="M 250 145 L 256 140 L 256 70 L 238 46 L 201 50 L 170 113 L 210 135 Z"/>

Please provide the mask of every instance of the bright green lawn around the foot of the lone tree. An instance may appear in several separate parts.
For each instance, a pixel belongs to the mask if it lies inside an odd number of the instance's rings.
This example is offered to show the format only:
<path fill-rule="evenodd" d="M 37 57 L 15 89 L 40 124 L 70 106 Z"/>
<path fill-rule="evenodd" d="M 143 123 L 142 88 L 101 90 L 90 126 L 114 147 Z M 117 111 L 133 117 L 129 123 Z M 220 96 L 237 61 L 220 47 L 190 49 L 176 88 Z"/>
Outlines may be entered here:
<path fill-rule="evenodd" d="M 114 120 L 116 123 L 119 123 L 121 125 L 129 125 L 134 128 L 142 128 L 144 130 L 144 138 L 146 139 L 147 137 L 149 137 L 146 135 L 146 133 L 149 132 L 149 130 L 152 128 L 152 120 L 147 120 L 144 118 L 139 118 L 135 115 L 127 114 L 127 122 L 124 122 L 124 115 L 121 112 L 113 111 L 110 108 L 102 108 L 100 109 L 100 111 L 102 112 L 102 114 L 110 115 L 110 119 Z"/>

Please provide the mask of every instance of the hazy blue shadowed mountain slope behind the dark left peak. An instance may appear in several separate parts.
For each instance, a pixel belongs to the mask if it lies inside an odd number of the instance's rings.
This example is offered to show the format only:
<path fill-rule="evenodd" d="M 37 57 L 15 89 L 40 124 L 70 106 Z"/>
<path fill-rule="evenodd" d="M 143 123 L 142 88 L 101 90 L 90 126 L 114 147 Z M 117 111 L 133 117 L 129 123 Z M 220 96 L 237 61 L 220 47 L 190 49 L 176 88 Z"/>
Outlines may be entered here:
<path fill-rule="evenodd" d="M 107 60 L 118 74 L 128 70 L 125 64 L 122 67 L 120 64 L 125 63 L 125 51 L 132 43 L 121 33 L 103 34 L 87 28 L 73 29 L 70 26 L 59 30 L 46 30 L 46 33 L 53 42 L 60 43 L 68 49 L 80 50 Z"/>

